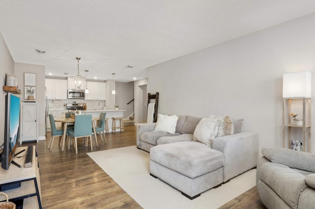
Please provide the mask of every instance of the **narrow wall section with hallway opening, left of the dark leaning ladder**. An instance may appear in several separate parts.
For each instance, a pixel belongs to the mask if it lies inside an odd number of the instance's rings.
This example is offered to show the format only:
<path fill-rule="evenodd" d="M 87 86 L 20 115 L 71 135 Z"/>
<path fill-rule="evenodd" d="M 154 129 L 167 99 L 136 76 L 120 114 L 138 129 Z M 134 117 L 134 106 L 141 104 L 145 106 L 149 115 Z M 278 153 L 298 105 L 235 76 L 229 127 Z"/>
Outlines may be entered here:
<path fill-rule="evenodd" d="M 134 94 L 134 121 L 135 123 L 143 123 L 147 121 L 143 121 L 143 112 L 146 111 L 146 108 L 144 107 L 144 103 L 147 103 L 146 101 L 143 101 L 144 95 L 147 95 L 147 85 L 148 85 L 148 78 L 136 80 L 133 82 L 133 94 Z M 145 87 L 145 90 L 143 89 Z M 145 108 L 145 109 L 144 109 Z"/>

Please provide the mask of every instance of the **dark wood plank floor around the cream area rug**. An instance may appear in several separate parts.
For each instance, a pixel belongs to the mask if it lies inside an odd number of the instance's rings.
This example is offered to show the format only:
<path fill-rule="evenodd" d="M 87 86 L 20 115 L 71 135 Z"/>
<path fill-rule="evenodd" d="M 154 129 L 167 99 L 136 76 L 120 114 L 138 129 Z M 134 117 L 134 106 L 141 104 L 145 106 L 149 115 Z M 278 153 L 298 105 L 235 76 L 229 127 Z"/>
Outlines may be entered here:
<path fill-rule="evenodd" d="M 126 126 L 125 133 L 106 134 L 107 144 L 98 135 L 98 147 L 93 142 L 93 152 L 136 145 L 136 127 Z M 78 154 L 74 148 L 61 152 L 58 138 L 52 152 L 47 149 L 47 140 L 36 145 L 40 168 L 41 199 L 44 209 L 141 209 L 141 207 L 115 183 L 88 155 L 91 147 L 78 140 Z M 94 137 L 93 137 L 94 140 Z M 106 159 L 104 159 L 106 160 Z M 242 196 L 243 195 L 243 196 Z M 256 188 L 225 204 L 221 209 L 261 208 Z"/>

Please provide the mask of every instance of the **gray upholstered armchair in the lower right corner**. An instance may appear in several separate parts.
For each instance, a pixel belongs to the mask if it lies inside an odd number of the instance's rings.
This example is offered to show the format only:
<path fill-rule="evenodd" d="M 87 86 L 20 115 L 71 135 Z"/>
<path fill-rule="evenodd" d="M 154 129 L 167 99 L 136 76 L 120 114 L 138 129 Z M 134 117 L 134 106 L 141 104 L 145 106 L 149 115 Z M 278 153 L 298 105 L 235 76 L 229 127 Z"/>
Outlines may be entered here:
<path fill-rule="evenodd" d="M 264 148 L 256 185 L 268 209 L 315 208 L 315 155 L 285 148 Z"/>

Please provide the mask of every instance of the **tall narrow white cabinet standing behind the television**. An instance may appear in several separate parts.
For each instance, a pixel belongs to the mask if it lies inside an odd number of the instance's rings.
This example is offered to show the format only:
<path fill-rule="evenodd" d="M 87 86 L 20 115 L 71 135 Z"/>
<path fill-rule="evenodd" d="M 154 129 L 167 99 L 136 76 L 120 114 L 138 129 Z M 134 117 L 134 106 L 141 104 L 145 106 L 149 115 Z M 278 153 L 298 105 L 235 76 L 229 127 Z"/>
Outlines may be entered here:
<path fill-rule="evenodd" d="M 21 103 L 20 144 L 34 140 L 38 142 L 38 105 L 37 103 Z"/>

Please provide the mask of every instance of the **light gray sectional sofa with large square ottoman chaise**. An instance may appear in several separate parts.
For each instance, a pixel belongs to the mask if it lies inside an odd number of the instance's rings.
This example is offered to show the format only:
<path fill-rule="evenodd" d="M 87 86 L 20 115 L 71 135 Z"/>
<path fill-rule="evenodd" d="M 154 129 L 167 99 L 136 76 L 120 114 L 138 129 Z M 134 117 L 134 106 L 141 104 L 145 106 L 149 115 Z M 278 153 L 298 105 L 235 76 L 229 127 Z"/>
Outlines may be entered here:
<path fill-rule="evenodd" d="M 234 121 L 234 134 L 212 140 L 212 148 L 193 141 L 201 117 L 179 116 L 174 134 L 154 131 L 156 123 L 138 124 L 137 148 L 150 152 L 150 174 L 194 199 L 201 192 L 257 165 L 258 134 L 242 132 Z"/>

